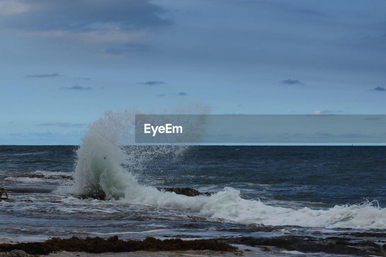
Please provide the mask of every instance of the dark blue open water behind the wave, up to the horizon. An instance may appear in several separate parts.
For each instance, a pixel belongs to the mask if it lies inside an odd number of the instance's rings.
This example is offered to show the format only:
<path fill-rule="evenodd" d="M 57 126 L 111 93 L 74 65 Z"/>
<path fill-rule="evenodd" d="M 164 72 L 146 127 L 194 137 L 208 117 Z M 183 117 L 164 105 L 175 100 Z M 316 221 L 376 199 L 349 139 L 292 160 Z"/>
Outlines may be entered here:
<path fill-rule="evenodd" d="M 75 149 L 0 146 L 0 171 L 73 172 Z M 386 204 L 384 146 L 192 146 L 178 158 L 149 160 L 140 172 L 141 183 L 210 191 L 231 186 L 249 199 Z"/>

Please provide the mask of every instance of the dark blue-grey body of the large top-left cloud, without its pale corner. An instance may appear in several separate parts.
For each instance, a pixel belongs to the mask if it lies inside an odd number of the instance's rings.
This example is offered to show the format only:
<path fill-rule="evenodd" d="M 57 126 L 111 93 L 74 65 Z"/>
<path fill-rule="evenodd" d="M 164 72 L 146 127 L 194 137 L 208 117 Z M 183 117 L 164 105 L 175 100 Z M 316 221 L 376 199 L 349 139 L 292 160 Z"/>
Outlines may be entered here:
<path fill-rule="evenodd" d="M 2 28 L 94 32 L 141 30 L 171 24 L 166 11 L 150 0 L 13 0 L 22 12 L 2 16 Z"/>

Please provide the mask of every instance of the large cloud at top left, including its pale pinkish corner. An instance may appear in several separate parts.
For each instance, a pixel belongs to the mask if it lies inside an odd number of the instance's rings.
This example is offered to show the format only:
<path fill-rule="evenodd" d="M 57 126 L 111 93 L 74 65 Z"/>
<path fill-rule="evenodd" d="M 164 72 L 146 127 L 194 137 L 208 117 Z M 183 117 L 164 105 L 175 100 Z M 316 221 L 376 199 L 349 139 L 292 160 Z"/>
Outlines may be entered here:
<path fill-rule="evenodd" d="M 161 17 L 166 10 L 150 0 L 12 0 L 0 2 L 0 10 L 6 14 L 2 29 L 95 41 L 127 40 L 172 24 Z"/>

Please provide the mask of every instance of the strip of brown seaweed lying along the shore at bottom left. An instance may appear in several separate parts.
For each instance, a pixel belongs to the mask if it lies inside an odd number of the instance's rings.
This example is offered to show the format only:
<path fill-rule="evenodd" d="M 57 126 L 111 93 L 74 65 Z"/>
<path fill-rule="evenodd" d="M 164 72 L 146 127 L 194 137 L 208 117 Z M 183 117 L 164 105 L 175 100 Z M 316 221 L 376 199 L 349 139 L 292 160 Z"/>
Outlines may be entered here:
<path fill-rule="evenodd" d="M 176 251 L 176 250 L 213 250 L 218 252 L 234 252 L 238 248 L 228 243 L 218 242 L 217 240 L 196 239 L 181 240 L 165 239 L 159 240 L 154 237 L 147 237 L 139 240 L 122 240 L 118 236 L 103 239 L 101 237 L 54 237 L 44 242 L 27 243 L 2 243 L 1 252 L 9 252 L 18 249 L 28 254 L 49 254 L 50 252 L 68 251 L 68 252 L 135 252 L 135 251 Z"/>

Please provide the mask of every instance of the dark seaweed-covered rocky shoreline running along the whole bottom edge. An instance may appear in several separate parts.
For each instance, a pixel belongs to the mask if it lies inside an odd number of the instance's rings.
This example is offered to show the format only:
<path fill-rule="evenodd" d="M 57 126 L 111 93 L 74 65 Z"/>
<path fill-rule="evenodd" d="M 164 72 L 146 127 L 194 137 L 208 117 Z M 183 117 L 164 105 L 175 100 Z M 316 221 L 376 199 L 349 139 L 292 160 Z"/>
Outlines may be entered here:
<path fill-rule="evenodd" d="M 180 238 L 122 240 L 117 236 L 51 238 L 44 242 L 0 243 L 0 253 L 24 250 L 44 256 L 210 256 L 332 254 L 386 256 L 386 232 L 346 232 L 332 237 L 284 235 L 278 237 L 227 237 L 182 240 Z M 2 256 L 2 255 L 0 255 Z"/>

